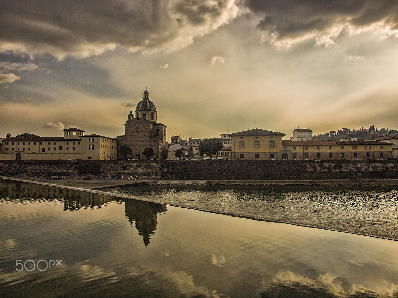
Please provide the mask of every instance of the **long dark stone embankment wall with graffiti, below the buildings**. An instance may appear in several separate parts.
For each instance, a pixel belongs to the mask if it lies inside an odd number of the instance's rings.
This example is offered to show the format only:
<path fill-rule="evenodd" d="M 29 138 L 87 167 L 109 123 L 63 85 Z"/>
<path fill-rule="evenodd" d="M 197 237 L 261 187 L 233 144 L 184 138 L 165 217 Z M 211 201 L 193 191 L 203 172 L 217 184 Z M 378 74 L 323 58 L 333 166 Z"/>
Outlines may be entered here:
<path fill-rule="evenodd" d="M 398 179 L 398 161 L 0 161 L 1 174 L 53 179 Z"/>

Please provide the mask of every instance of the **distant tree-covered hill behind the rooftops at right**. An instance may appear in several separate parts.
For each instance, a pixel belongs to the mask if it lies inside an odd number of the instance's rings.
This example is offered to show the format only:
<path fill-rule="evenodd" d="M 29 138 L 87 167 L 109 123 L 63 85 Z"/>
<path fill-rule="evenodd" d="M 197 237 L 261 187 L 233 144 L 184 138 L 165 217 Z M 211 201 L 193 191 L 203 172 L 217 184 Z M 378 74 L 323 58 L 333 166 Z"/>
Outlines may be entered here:
<path fill-rule="evenodd" d="M 381 137 L 384 135 L 395 135 L 398 134 L 394 128 L 375 128 L 374 125 L 367 128 L 360 128 L 359 130 L 350 130 L 348 128 L 341 128 L 337 132 L 331 131 L 326 132 L 324 134 L 315 135 L 318 140 L 326 140 L 326 139 L 335 139 L 336 141 L 340 141 L 341 139 L 348 139 L 351 137 L 356 137 L 358 141 L 362 141 L 364 139 L 374 139 L 376 137 Z"/>

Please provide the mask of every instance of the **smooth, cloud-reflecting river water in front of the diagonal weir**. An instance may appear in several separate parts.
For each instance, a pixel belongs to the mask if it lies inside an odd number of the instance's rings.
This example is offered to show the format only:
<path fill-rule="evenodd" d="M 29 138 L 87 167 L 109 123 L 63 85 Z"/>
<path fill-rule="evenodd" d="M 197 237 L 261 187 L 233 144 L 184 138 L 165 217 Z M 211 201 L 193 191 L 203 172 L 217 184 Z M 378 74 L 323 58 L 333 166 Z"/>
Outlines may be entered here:
<path fill-rule="evenodd" d="M 398 242 L 0 181 L 0 297 L 396 298 Z"/>

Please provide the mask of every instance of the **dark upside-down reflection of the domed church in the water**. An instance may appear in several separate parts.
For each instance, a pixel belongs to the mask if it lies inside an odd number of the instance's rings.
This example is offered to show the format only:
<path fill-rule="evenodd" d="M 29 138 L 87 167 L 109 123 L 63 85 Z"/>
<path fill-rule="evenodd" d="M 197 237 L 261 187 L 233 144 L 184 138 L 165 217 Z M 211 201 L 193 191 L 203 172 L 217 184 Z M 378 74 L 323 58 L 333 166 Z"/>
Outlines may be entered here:
<path fill-rule="evenodd" d="M 142 236 L 145 246 L 149 244 L 149 236 L 153 235 L 158 224 L 157 213 L 165 212 L 166 205 L 145 201 L 125 200 L 125 213 L 131 226 L 135 221 L 135 228 Z"/>

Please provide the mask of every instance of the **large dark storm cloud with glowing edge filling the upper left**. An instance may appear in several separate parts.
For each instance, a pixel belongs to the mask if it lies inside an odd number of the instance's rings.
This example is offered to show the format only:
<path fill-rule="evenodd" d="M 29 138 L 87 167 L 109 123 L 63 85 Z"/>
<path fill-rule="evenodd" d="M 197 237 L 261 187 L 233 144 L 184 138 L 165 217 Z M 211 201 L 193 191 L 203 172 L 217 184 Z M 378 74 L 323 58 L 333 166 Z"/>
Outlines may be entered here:
<path fill-rule="evenodd" d="M 16 0 L 0 4 L 0 49 L 89 56 L 174 50 L 227 23 L 234 0 Z"/>

